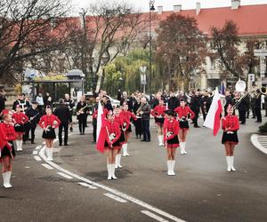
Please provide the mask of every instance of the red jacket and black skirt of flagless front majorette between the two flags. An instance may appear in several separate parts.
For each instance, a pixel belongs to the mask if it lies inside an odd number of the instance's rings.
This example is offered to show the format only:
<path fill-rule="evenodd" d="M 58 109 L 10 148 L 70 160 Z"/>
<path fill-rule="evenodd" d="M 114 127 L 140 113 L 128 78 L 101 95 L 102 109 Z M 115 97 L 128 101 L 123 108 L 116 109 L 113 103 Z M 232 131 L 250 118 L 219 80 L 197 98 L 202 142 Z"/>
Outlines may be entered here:
<path fill-rule="evenodd" d="M 164 141 L 167 143 L 167 147 L 179 147 L 179 122 L 176 119 L 164 121 L 163 132 L 164 132 Z"/>

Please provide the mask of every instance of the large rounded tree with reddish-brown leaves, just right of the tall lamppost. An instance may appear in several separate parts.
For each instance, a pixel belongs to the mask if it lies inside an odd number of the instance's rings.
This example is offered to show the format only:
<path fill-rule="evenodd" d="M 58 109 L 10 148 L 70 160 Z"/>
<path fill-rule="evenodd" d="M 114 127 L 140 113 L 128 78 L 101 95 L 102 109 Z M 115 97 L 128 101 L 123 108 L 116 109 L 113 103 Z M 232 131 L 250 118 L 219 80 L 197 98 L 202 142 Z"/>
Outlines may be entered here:
<path fill-rule="evenodd" d="M 194 18 L 176 13 L 159 23 L 157 33 L 157 60 L 166 84 L 188 90 L 190 77 L 205 64 L 206 36 Z"/>

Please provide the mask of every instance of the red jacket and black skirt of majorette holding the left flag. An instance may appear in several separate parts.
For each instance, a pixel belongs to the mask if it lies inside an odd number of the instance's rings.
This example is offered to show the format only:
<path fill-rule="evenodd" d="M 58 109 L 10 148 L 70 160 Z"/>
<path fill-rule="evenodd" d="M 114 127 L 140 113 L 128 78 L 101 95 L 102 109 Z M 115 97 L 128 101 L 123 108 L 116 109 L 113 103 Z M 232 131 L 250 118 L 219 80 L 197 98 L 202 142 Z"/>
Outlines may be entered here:
<path fill-rule="evenodd" d="M 107 136 L 105 139 L 105 148 L 108 149 L 112 146 L 113 149 L 119 148 L 118 139 L 120 137 L 120 128 L 119 124 L 115 121 L 109 122 L 108 120 L 105 121 L 105 128 L 107 131 Z"/>

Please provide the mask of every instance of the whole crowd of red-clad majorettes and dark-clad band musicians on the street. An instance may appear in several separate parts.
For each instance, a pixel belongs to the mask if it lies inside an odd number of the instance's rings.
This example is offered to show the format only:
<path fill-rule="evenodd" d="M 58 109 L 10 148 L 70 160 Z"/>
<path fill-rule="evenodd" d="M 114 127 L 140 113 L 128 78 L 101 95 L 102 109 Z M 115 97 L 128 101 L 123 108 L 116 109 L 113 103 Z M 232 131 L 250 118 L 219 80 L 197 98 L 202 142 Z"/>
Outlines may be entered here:
<path fill-rule="evenodd" d="M 241 99 L 240 99 L 241 98 Z M 199 128 L 198 118 L 201 115 L 206 119 L 207 112 L 212 104 L 213 92 L 159 91 L 155 97 L 147 98 L 141 92 L 131 93 L 124 91 L 117 93 L 119 104 L 112 104 L 106 91 L 100 91 L 93 104 L 93 142 L 97 142 L 97 121 L 99 101 L 106 116 L 105 126 L 107 137 L 103 148 L 107 155 L 108 179 L 116 179 L 115 169 L 122 168 L 122 156 L 130 155 L 128 141 L 133 131 L 136 139 L 142 142 L 150 142 L 150 116 L 154 117 L 157 125 L 158 146 L 166 147 L 167 175 L 174 176 L 176 148 L 180 147 L 180 154 L 186 155 L 186 138 L 190 124 Z M 10 178 L 12 172 L 12 159 L 16 151 L 22 151 L 22 145 L 30 138 L 35 144 L 35 131 L 37 125 L 43 129 L 42 138 L 45 142 L 47 161 L 53 161 L 53 141 L 56 138 L 55 129 L 59 128 L 59 146 L 69 146 L 69 131 L 73 131 L 74 108 L 78 121 L 80 135 L 85 135 L 89 104 L 85 96 L 81 97 L 77 104 L 65 94 L 64 99 L 59 100 L 59 105 L 53 108 L 53 100 L 49 93 L 43 98 L 38 93 L 34 101 L 29 101 L 24 94 L 18 95 L 13 102 L 12 110 L 5 108 L 5 93 L 0 91 L 0 150 L 4 187 L 11 187 Z M 266 106 L 263 105 L 263 102 Z M 238 104 L 238 106 L 236 106 Z M 252 113 L 256 122 L 262 122 L 261 109 L 266 110 L 267 99 L 261 91 L 246 93 L 225 91 L 223 99 L 224 116 L 222 117 L 223 139 L 225 147 L 227 170 L 235 170 L 233 166 L 234 147 L 239 143 L 237 131 L 239 123 L 245 124 L 246 118 Z M 235 115 L 239 110 L 239 117 Z M 64 131 L 64 141 L 62 132 Z M 30 135 L 29 135 L 30 132 Z"/>

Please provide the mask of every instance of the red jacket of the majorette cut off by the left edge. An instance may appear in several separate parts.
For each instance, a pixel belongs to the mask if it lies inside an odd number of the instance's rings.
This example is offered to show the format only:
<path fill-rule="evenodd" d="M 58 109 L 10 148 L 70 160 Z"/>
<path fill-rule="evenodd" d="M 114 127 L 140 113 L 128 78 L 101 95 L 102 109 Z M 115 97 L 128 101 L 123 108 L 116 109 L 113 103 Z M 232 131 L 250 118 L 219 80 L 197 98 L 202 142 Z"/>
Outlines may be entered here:
<path fill-rule="evenodd" d="M 8 144 L 8 141 L 15 140 L 17 134 L 14 127 L 11 124 L 0 123 L 0 149 L 2 150 L 5 146 L 10 150 L 12 147 Z"/>

